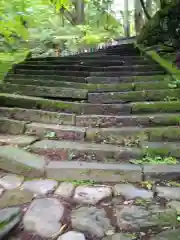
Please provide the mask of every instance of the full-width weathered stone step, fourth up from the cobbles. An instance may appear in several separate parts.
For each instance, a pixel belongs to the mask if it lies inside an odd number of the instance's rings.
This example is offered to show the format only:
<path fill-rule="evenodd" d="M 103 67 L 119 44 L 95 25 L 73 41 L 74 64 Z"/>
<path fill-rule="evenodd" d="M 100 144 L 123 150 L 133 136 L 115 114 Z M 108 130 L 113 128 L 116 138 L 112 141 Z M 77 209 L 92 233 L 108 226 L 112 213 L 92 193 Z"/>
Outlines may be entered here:
<path fill-rule="evenodd" d="M 145 115 L 75 115 L 25 108 L 0 107 L 0 117 L 26 122 L 39 122 L 57 125 L 76 125 L 82 127 L 155 127 L 178 126 L 180 114 Z"/>

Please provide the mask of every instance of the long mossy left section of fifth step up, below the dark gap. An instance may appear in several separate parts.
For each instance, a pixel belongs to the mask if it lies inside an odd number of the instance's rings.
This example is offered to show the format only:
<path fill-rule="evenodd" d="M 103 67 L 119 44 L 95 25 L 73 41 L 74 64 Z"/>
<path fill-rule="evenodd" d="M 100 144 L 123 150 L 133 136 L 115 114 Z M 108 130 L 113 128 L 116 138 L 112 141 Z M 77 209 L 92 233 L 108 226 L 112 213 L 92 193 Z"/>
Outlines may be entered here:
<path fill-rule="evenodd" d="M 131 105 L 128 104 L 89 104 L 48 100 L 38 97 L 0 93 L 1 107 L 17 107 L 41 109 L 48 111 L 75 114 L 130 114 Z"/>

